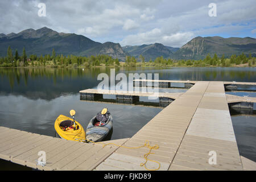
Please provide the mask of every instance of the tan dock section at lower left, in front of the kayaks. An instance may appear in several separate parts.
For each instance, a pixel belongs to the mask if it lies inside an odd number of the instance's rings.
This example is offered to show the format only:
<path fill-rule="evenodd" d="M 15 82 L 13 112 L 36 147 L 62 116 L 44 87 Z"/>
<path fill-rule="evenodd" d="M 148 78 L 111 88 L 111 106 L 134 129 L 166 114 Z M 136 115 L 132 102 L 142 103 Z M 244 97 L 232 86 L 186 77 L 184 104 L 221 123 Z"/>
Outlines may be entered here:
<path fill-rule="evenodd" d="M 41 170 L 92 170 L 112 154 L 117 146 L 80 143 L 0 127 L 0 158 Z M 123 144 L 127 139 L 113 140 Z M 108 143 L 108 142 L 105 142 Z M 46 166 L 37 165 L 38 152 L 46 152 Z"/>

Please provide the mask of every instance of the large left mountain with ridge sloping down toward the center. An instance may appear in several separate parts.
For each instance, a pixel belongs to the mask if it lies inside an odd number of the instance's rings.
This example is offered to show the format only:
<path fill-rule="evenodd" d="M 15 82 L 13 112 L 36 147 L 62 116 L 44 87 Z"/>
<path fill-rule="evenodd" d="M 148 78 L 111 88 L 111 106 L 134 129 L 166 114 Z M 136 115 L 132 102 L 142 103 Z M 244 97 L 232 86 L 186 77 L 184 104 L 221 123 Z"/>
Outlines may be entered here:
<path fill-rule="evenodd" d="M 27 29 L 18 34 L 0 34 L 0 56 L 6 56 L 8 46 L 22 53 L 23 47 L 27 55 L 51 54 L 55 49 L 56 54 L 91 56 L 105 54 L 120 60 L 125 60 L 126 53 L 122 51 L 119 43 L 94 42 L 82 35 L 65 34 L 43 27 L 38 30 Z M 13 52 L 14 53 L 14 52 Z"/>

